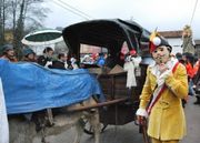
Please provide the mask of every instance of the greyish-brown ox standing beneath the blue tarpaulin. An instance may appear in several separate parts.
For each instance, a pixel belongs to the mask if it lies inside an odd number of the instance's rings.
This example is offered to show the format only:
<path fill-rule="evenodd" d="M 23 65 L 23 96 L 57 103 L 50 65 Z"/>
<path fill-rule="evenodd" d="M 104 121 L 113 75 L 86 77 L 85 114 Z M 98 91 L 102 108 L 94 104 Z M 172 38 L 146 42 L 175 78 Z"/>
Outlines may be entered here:
<path fill-rule="evenodd" d="M 99 143 L 100 122 L 98 109 L 73 112 L 73 108 L 77 109 L 82 105 L 94 104 L 97 104 L 97 102 L 93 100 L 93 98 L 90 98 L 89 100 L 83 101 L 81 104 L 77 103 L 62 108 L 60 109 L 60 112 L 56 111 L 52 124 L 49 123 L 46 112 L 32 113 L 31 121 L 27 120 L 24 115 L 10 115 L 10 143 L 32 143 L 38 137 L 41 139 L 41 142 L 43 143 L 50 143 L 50 141 L 47 140 L 47 136 L 58 135 L 70 127 L 76 129 L 73 143 L 80 143 L 84 127 L 84 120 L 87 120 L 93 127 L 94 143 Z M 36 119 L 39 121 L 39 123 L 36 122 Z"/>

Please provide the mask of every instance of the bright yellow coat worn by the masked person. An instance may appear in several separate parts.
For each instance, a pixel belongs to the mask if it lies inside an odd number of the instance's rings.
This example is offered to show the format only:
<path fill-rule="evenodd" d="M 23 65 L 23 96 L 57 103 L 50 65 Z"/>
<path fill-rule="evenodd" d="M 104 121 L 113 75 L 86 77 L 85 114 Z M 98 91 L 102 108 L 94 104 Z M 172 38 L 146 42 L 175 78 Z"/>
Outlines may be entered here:
<path fill-rule="evenodd" d="M 181 104 L 181 99 L 188 95 L 186 68 L 179 63 L 176 71 L 167 75 L 164 83 L 167 89 L 149 115 L 148 134 L 161 141 L 180 140 L 186 135 L 186 118 Z M 152 73 L 152 68 L 149 67 L 140 95 L 140 109 L 147 108 L 156 85 L 157 76 Z"/>

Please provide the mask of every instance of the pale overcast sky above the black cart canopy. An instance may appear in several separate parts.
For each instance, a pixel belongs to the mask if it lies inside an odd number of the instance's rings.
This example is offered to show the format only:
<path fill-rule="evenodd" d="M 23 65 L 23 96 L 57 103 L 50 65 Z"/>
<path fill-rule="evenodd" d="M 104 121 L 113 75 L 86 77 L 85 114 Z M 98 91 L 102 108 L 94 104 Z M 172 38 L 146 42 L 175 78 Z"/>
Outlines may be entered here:
<path fill-rule="evenodd" d="M 87 19 L 67 10 L 61 1 L 82 11 L 89 19 L 134 20 L 149 31 L 182 30 L 190 24 L 197 0 L 51 0 L 46 3 L 51 12 L 46 27 L 68 27 Z M 62 7 L 66 7 L 62 8 Z M 72 10 L 74 11 L 74 10 Z M 76 12 L 76 11 L 74 11 Z M 200 39 L 200 1 L 191 23 L 193 39 Z"/>

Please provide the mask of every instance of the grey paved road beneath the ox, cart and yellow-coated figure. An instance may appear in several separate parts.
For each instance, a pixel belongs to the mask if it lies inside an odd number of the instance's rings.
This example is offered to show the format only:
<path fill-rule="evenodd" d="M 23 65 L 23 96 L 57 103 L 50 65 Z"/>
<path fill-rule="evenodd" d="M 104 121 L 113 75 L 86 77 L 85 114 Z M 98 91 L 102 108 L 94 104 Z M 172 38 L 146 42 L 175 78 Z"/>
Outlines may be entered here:
<path fill-rule="evenodd" d="M 200 105 L 193 105 L 193 101 L 194 98 L 190 98 L 184 109 L 188 122 L 188 135 L 181 143 L 200 143 Z M 73 129 L 70 129 L 58 136 L 49 136 L 48 141 L 50 143 L 71 143 L 72 139 Z M 93 137 L 83 134 L 81 143 L 93 143 Z M 142 135 L 138 133 L 138 126 L 132 122 L 122 126 L 109 125 L 101 134 L 100 143 L 143 143 L 143 141 Z"/>

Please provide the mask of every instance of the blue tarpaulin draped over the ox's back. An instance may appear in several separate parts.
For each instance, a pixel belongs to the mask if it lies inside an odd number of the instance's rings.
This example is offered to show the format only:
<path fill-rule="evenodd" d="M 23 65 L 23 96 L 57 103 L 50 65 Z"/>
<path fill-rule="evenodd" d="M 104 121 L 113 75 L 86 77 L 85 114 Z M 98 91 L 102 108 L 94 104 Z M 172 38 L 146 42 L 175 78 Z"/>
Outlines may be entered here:
<path fill-rule="evenodd" d="M 66 106 L 93 94 L 103 98 L 96 76 L 84 69 L 56 70 L 0 60 L 0 76 L 8 114 Z"/>

